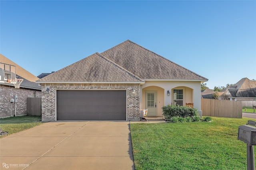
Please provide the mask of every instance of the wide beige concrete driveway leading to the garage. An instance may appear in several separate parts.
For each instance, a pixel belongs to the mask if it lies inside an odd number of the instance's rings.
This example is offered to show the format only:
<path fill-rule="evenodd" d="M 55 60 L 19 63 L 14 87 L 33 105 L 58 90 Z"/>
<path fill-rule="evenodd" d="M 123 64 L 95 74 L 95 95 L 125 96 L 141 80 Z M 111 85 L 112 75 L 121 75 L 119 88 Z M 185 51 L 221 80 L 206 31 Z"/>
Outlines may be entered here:
<path fill-rule="evenodd" d="M 1 138 L 0 169 L 134 170 L 129 122 L 50 122 Z"/>

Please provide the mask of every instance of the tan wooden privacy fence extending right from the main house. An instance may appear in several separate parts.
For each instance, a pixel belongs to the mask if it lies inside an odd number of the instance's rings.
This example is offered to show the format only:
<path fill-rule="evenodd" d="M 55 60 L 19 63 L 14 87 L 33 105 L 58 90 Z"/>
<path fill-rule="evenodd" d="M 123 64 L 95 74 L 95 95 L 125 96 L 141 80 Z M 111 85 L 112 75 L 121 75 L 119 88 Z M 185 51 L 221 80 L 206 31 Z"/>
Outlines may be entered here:
<path fill-rule="evenodd" d="M 242 118 L 242 102 L 201 99 L 202 115 L 213 117 Z"/>

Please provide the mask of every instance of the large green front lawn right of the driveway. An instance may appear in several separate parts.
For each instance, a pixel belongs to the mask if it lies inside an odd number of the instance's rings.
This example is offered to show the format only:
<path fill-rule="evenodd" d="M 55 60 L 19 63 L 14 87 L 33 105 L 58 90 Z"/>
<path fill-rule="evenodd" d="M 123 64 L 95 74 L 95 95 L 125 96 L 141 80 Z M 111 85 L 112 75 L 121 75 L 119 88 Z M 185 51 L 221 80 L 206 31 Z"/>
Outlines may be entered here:
<path fill-rule="evenodd" d="M 131 123 L 136 170 L 246 170 L 238 126 L 249 118 L 212 122 Z"/>

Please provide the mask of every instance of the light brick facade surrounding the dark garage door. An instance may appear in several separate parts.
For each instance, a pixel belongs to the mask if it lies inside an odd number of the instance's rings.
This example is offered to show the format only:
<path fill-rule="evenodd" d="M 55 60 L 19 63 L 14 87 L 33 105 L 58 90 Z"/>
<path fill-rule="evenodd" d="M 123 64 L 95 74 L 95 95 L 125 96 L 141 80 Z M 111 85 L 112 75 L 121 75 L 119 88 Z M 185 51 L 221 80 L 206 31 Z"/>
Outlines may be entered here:
<path fill-rule="evenodd" d="M 140 84 L 42 83 L 42 121 L 55 121 L 56 90 L 127 90 L 127 120 L 140 120 Z M 45 90 L 49 88 L 49 93 Z M 132 94 L 132 89 L 136 94 Z"/>

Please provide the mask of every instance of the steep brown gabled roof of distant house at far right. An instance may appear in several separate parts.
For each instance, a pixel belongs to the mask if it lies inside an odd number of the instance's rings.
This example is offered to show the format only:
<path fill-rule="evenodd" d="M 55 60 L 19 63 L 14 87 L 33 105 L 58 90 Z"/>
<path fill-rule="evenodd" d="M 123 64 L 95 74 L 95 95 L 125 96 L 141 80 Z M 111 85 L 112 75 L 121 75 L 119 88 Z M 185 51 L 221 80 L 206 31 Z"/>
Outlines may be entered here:
<path fill-rule="evenodd" d="M 220 95 L 220 98 L 223 98 L 225 95 L 227 97 L 238 97 L 238 98 L 244 98 L 244 97 L 253 97 L 256 96 L 256 84 L 249 80 L 248 78 L 242 78 L 239 80 L 236 84 L 232 86 L 228 86 Z"/>

